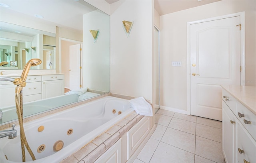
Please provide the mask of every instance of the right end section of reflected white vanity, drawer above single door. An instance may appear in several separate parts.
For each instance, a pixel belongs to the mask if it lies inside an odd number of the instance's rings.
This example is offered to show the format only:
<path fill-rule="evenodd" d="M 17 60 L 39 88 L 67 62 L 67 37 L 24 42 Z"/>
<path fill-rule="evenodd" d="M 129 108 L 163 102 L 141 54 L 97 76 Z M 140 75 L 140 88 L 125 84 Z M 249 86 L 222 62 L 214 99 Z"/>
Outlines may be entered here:
<path fill-rule="evenodd" d="M 64 94 L 64 74 L 42 76 L 42 99 Z"/>

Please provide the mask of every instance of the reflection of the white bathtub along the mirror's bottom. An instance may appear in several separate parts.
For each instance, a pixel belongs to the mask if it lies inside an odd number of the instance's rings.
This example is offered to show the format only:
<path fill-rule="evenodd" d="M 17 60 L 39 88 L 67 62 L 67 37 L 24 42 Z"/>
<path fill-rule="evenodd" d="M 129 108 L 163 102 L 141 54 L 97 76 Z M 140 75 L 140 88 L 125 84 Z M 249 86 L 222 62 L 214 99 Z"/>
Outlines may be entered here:
<path fill-rule="evenodd" d="M 23 116 L 30 116 L 37 113 L 42 113 L 44 111 L 48 111 L 53 108 L 58 108 L 60 106 L 64 106 L 67 104 L 71 104 L 73 102 L 78 102 L 80 100 L 85 100 L 88 98 L 92 98 L 94 96 L 98 96 L 100 94 L 85 92 L 82 95 L 78 94 L 67 94 L 52 98 L 46 98 L 42 100 L 36 100 L 32 102 L 26 102 L 23 104 Z M 10 123 L 10 121 L 17 120 L 18 116 L 16 114 L 16 106 L 8 106 L 6 108 L 1 108 L 3 112 L 3 117 L 1 124 Z"/>

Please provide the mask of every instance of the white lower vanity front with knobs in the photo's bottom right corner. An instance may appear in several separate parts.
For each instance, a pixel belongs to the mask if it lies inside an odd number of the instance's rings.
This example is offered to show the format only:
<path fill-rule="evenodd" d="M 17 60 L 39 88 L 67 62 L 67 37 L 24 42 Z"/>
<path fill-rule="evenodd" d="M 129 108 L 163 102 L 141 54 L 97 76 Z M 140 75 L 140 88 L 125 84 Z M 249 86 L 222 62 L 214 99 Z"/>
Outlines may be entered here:
<path fill-rule="evenodd" d="M 242 124 L 238 122 L 237 125 L 237 159 L 239 163 L 256 163 L 256 141 L 250 136 L 250 134 L 242 127 Z M 239 149 L 238 149 L 239 148 Z M 246 161 L 244 161 L 246 160 Z"/>

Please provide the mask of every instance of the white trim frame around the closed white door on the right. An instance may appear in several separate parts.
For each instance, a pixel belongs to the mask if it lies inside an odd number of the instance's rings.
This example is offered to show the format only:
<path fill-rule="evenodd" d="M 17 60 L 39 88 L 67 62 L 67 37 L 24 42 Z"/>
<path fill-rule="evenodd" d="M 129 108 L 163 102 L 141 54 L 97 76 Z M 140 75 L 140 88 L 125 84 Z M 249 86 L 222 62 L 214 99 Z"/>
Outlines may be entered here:
<path fill-rule="evenodd" d="M 237 12 L 234 14 L 228 14 L 223 16 L 217 16 L 213 18 L 197 20 L 194 22 L 187 23 L 187 114 L 190 115 L 190 25 L 208 22 L 213 20 L 231 18 L 235 16 L 240 16 L 240 66 L 242 67 L 242 72 L 240 73 L 240 84 L 245 85 L 245 14 L 244 12 Z"/>

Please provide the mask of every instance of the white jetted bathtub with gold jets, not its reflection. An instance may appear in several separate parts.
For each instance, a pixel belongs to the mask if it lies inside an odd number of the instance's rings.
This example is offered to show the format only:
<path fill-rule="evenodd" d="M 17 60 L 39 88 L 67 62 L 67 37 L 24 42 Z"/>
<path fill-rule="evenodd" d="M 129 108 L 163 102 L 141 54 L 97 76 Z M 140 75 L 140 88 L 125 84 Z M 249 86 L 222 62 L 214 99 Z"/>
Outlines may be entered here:
<path fill-rule="evenodd" d="M 113 109 L 116 109 L 115 114 L 112 113 Z M 121 111 L 122 114 L 118 115 L 118 111 Z M 132 111 L 133 109 L 129 107 L 127 100 L 106 96 L 27 122 L 24 124 L 26 139 L 36 160 L 32 161 L 26 151 L 26 162 L 59 163 Z M 44 126 L 42 132 L 38 132 L 39 126 Z M 22 162 L 20 130 L 19 127 L 15 129 L 17 130 L 16 138 L 8 139 L 8 137 L 4 137 L 0 139 L 1 163 Z M 73 130 L 73 134 L 67 134 L 69 129 Z M 60 151 L 55 152 L 53 145 L 58 140 L 63 141 L 64 146 Z M 45 145 L 44 151 L 38 153 L 38 147 L 43 144 Z M 6 160 L 5 155 L 8 160 Z"/>

